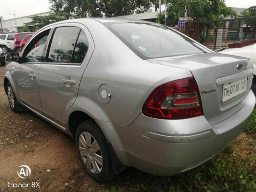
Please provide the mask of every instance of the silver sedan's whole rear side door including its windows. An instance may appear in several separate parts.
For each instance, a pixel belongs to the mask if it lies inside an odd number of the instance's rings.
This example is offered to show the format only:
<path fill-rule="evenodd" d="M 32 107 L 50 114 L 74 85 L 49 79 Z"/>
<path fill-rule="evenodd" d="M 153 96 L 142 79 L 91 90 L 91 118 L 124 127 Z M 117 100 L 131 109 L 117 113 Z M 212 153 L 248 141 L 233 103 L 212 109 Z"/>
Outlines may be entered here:
<path fill-rule="evenodd" d="M 93 39 L 80 24 L 56 25 L 39 72 L 39 93 L 44 114 L 65 127 L 79 83 L 93 53 Z"/>

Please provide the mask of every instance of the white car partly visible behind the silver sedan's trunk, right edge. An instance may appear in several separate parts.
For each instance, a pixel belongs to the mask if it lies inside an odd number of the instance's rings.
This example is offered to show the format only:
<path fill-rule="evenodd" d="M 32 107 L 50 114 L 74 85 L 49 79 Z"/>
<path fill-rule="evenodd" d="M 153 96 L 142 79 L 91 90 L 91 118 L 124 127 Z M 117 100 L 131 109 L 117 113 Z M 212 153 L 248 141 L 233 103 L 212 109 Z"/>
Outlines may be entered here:
<path fill-rule="evenodd" d="M 256 44 L 252 44 L 241 48 L 225 49 L 220 53 L 250 58 L 249 62 L 253 64 L 253 75 L 256 75 Z"/>

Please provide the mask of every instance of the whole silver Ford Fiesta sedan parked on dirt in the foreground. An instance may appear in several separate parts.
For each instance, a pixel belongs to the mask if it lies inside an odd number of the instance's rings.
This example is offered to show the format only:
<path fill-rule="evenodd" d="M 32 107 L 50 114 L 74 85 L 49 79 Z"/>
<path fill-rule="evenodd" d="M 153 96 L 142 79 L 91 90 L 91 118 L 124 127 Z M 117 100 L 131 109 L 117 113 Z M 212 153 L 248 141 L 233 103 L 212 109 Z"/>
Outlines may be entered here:
<path fill-rule="evenodd" d="M 159 176 L 196 167 L 238 137 L 255 104 L 247 58 L 150 22 L 66 20 L 6 59 L 12 111 L 74 137 L 98 181 L 125 166 Z"/>

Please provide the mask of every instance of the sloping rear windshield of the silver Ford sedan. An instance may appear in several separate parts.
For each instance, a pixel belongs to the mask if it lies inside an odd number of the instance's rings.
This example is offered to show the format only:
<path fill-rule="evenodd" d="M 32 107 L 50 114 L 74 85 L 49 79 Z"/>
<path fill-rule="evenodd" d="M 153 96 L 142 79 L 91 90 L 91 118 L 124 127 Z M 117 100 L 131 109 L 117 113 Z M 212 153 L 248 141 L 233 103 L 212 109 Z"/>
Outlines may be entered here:
<path fill-rule="evenodd" d="M 204 53 L 203 48 L 176 31 L 146 23 L 104 23 L 142 59 Z"/>

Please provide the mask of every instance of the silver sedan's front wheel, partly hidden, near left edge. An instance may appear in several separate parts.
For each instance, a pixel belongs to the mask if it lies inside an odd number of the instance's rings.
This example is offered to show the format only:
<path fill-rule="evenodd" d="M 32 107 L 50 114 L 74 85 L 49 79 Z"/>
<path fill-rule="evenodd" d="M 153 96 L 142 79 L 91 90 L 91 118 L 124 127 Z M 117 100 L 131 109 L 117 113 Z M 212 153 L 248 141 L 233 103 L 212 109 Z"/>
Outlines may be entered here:
<path fill-rule="evenodd" d="M 21 111 L 26 111 L 25 106 L 19 104 L 19 102 L 17 101 L 10 82 L 7 83 L 6 89 L 7 89 L 6 92 L 7 92 L 7 97 L 8 97 L 8 101 L 9 101 L 11 110 L 15 113 L 21 112 Z"/>

